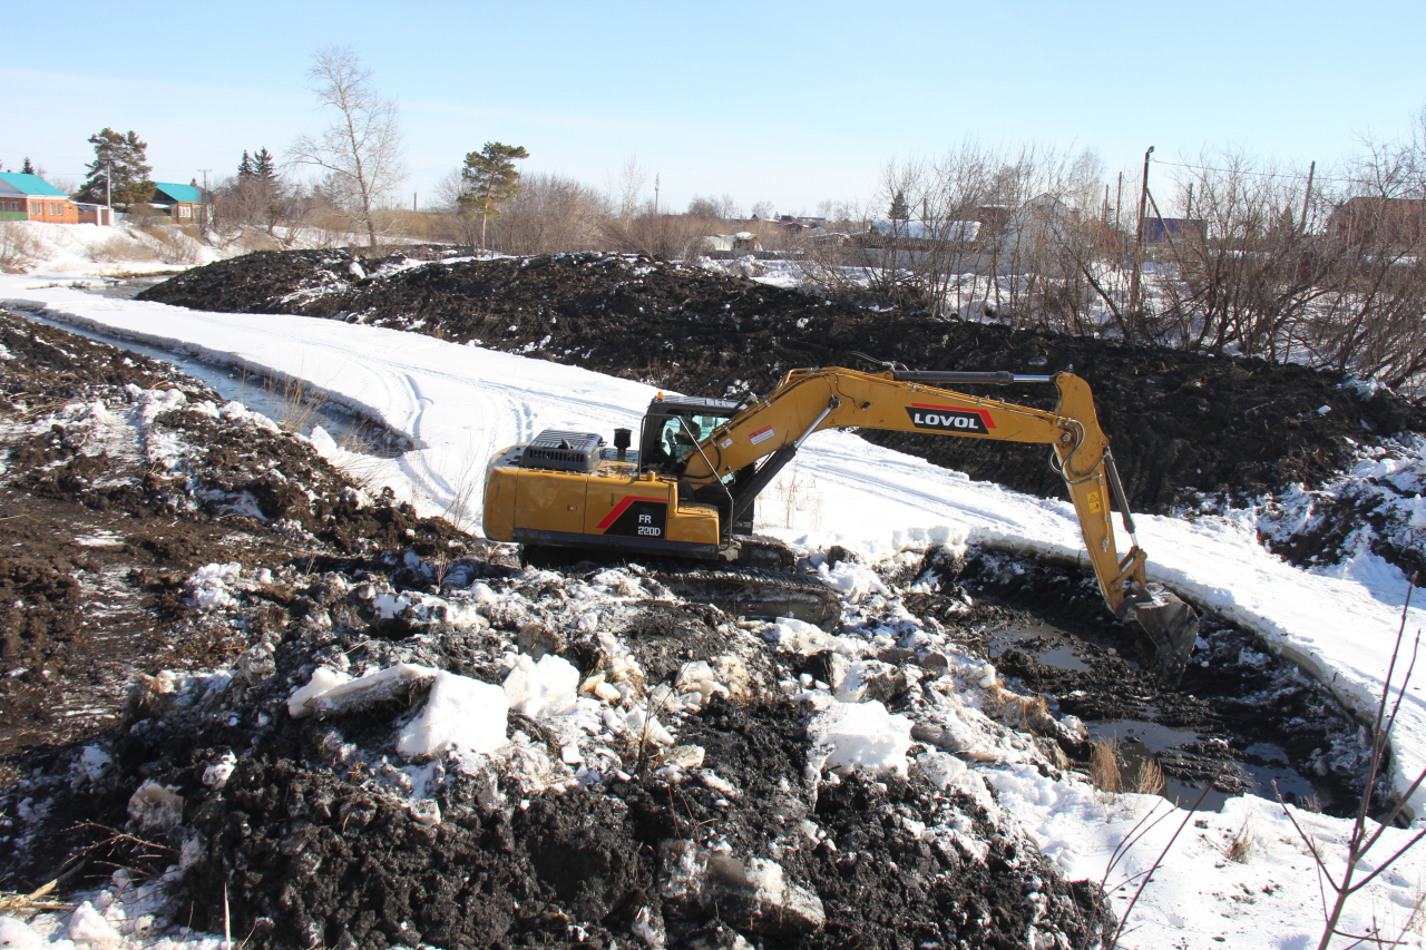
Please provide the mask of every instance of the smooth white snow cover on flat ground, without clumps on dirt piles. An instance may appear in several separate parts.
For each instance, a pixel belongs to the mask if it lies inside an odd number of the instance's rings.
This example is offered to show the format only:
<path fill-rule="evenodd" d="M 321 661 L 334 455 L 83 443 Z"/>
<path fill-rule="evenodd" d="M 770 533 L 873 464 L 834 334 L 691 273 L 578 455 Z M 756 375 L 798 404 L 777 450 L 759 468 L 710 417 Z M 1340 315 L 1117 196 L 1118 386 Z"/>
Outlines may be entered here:
<path fill-rule="evenodd" d="M 56 257 L 30 275 L 0 275 L 0 302 L 106 334 L 200 355 L 314 391 L 408 434 L 415 451 L 372 462 L 314 441 L 334 461 L 359 464 L 362 478 L 408 494 L 431 514 L 451 512 L 478 529 L 486 459 L 543 428 L 606 436 L 633 427 L 650 387 L 429 337 L 302 317 L 208 314 L 161 304 L 98 298 L 68 287 L 80 264 Z M 381 468 L 376 468 L 381 466 Z M 991 484 L 873 446 L 843 432 L 806 445 L 796 471 L 764 508 L 766 531 L 803 543 L 841 543 L 868 559 L 930 533 L 950 541 L 994 541 L 1025 552 L 1072 556 L 1078 528 L 1068 504 L 1008 492 Z M 793 484 L 796 482 L 796 484 Z M 1406 579 L 1389 565 L 1360 558 L 1336 576 L 1286 565 L 1258 543 L 1252 512 L 1195 522 L 1138 516 L 1151 578 L 1202 608 L 1256 630 L 1272 649 L 1328 683 L 1368 715 L 1390 662 Z M 1407 629 L 1423 626 L 1413 608 Z M 1393 736 L 1397 789 L 1426 767 L 1426 700 L 1410 688 Z M 1022 765 L 987 766 L 985 775 L 1041 849 L 1071 877 L 1114 887 L 1147 870 L 1186 817 L 1166 816 L 1117 849 L 1158 797 L 1109 800 L 1078 780 L 1054 782 Z M 1416 827 L 1426 827 L 1426 792 L 1410 796 Z M 1339 854 L 1346 822 L 1295 813 L 1320 846 Z M 1389 829 L 1379 854 L 1407 840 Z M 1242 853 L 1232 842 L 1241 839 Z M 1243 860 L 1231 860 L 1229 852 Z M 1339 864 L 1339 857 L 1333 859 Z M 1379 857 L 1378 857 L 1379 860 Z M 1137 882 L 1115 897 L 1122 910 Z M 1405 924 L 1426 893 L 1426 852 L 1410 853 L 1352 906 L 1348 929 L 1373 920 Z M 1134 910 L 1125 946 L 1309 947 L 1320 933 L 1319 886 L 1310 856 L 1275 802 L 1231 800 L 1222 813 L 1189 817 L 1164 867 Z M 0 946 L 6 930 L 0 924 Z M 71 930 L 71 936 L 78 936 Z M 1407 934 L 1419 944 L 1419 937 Z M 76 946 L 96 946 L 74 940 Z M 23 944 L 11 944 L 23 946 Z M 1342 944 L 1345 946 L 1345 944 Z"/>

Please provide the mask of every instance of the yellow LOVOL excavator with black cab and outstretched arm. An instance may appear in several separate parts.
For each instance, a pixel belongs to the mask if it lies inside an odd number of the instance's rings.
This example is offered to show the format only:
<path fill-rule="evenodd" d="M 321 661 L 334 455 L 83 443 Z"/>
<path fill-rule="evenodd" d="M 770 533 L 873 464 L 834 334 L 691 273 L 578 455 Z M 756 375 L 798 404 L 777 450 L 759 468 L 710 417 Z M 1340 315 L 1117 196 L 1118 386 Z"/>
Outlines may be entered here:
<path fill-rule="evenodd" d="M 860 357 L 860 354 L 857 354 Z M 1105 603 L 1139 630 L 1158 678 L 1176 683 L 1194 649 L 1198 615 L 1168 591 L 1149 589 L 1109 441 L 1089 385 L 1071 372 L 811 368 L 787 372 L 766 398 L 665 397 L 649 404 L 639 448 L 615 429 L 548 429 L 498 452 L 486 471 L 485 533 L 528 548 L 582 548 L 653 558 L 753 563 L 753 505 L 819 429 L 930 432 L 1044 444 L 1064 478 Z M 948 385 L 1054 385 L 1054 411 L 987 399 Z M 1114 543 L 1111 501 L 1132 546 Z"/>

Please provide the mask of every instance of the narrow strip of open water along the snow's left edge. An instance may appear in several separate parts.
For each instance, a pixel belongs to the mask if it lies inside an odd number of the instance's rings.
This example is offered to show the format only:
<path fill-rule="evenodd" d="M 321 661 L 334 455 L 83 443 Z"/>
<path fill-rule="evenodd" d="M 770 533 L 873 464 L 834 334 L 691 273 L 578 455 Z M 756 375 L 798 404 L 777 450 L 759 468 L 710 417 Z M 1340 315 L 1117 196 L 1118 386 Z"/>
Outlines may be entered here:
<path fill-rule="evenodd" d="M 167 277 L 107 278 L 101 282 L 86 281 L 83 287 L 76 287 L 100 297 L 131 300 L 143 290 L 164 280 Z M 248 409 L 261 412 L 279 425 L 285 419 L 299 418 L 302 419 L 304 434 L 309 432 L 314 425 L 321 425 L 338 445 L 358 445 L 361 446 L 359 451 L 365 455 L 396 458 L 412 448 L 404 434 L 388 428 L 378 419 L 354 414 L 344 407 L 334 405 L 319 397 L 312 397 L 295 384 L 274 381 L 251 371 L 234 369 L 227 365 L 204 362 L 187 354 L 76 327 L 43 314 L 21 312 L 37 322 L 165 362 L 185 375 L 212 387 L 224 399 L 241 402 Z"/>

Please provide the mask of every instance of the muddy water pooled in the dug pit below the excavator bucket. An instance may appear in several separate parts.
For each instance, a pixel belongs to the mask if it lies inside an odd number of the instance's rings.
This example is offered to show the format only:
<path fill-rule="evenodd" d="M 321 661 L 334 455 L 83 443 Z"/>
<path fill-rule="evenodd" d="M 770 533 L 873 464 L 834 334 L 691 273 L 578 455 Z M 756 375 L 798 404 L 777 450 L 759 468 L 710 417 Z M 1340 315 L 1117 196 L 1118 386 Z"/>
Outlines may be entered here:
<path fill-rule="evenodd" d="M 1077 636 L 1042 619 L 1012 620 L 985 633 L 987 652 L 992 660 L 1000 662 L 1007 650 L 1015 650 L 1032 658 L 1037 666 L 1062 673 L 1089 675 L 1102 656 L 1119 653 L 1118 648 L 1111 645 L 1112 640 Z M 1024 660 L 1018 658 L 1017 660 L 1024 665 Z M 1132 658 L 1125 658 L 1125 662 L 1138 668 Z M 1077 699 L 1074 692 L 1082 690 L 1071 690 L 1065 699 Z M 1074 703 L 1061 702 L 1061 705 Z M 1319 803 L 1330 803 L 1338 797 L 1338 790 L 1329 783 L 1315 780 L 1299 770 L 1292 762 L 1293 756 L 1278 742 L 1233 735 L 1231 723 L 1222 720 L 1204 723 L 1201 727 L 1165 725 L 1158 719 L 1172 720 L 1181 716 L 1165 716 L 1161 703 L 1141 702 L 1129 708 L 1135 710 L 1135 716 L 1088 719 L 1079 710 L 1091 740 L 1115 743 L 1121 783 L 1127 790 L 1151 786 L 1156 780 L 1154 776 L 1156 770 L 1162 773 L 1159 793 L 1182 807 L 1216 812 L 1228 797 L 1241 793 L 1275 799 L 1281 792 L 1292 802 L 1310 799 Z M 1226 787 L 1211 787 L 1211 776 L 1204 780 L 1185 775 L 1185 772 L 1201 773 L 1206 765 L 1205 759 L 1211 760 L 1215 753 L 1222 759 L 1225 772 L 1231 772 L 1229 783 L 1218 783 Z"/>

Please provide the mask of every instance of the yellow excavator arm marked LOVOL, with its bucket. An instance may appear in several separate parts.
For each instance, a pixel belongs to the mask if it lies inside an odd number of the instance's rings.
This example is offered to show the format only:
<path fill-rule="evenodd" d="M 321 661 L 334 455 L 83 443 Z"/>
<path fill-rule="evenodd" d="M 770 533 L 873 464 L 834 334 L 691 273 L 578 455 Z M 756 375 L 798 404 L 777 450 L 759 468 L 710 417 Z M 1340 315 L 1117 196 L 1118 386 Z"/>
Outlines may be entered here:
<path fill-rule="evenodd" d="M 968 395 L 944 385 L 1051 384 L 1054 411 Z M 747 407 L 707 435 L 684 459 L 682 481 L 727 488 L 734 516 L 752 505 L 796 454 L 821 429 L 863 428 L 927 432 L 1051 446 L 1051 465 L 1064 478 L 1084 535 L 1099 592 L 1115 616 L 1147 638 L 1145 653 L 1165 682 L 1176 682 L 1198 630 L 1198 615 L 1168 592 L 1151 592 L 1145 555 L 1119 482 L 1109 441 L 1099 428 L 1089 385 L 1068 372 L 1025 377 L 1010 372 L 896 371 L 868 374 L 844 368 L 793 369 L 766 399 Z M 729 479 L 739 474 L 739 478 Z M 1112 505 L 1131 538 L 1121 558 Z"/>

